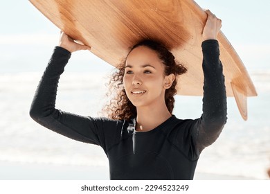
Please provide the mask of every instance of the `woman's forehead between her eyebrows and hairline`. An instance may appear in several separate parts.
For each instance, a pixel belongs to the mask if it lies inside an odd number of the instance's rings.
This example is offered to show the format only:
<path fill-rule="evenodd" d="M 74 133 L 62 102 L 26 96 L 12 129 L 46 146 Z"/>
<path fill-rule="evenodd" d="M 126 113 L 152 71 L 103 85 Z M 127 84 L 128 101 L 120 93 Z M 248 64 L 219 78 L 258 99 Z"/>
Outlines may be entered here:
<path fill-rule="evenodd" d="M 147 46 L 138 46 L 134 48 L 129 55 L 127 55 L 125 65 L 136 65 L 136 64 L 159 64 L 162 65 L 161 60 L 159 59 L 156 51 L 153 51 Z"/>

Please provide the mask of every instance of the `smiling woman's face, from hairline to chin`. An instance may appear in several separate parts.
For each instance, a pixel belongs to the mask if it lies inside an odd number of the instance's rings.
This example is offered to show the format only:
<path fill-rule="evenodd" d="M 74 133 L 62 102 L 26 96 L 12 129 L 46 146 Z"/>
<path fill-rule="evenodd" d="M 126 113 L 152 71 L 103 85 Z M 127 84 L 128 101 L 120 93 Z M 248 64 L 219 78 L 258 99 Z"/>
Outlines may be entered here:
<path fill-rule="evenodd" d="M 157 53 L 146 46 L 134 48 L 127 56 L 123 78 L 127 97 L 136 107 L 165 103 L 168 76 Z"/>

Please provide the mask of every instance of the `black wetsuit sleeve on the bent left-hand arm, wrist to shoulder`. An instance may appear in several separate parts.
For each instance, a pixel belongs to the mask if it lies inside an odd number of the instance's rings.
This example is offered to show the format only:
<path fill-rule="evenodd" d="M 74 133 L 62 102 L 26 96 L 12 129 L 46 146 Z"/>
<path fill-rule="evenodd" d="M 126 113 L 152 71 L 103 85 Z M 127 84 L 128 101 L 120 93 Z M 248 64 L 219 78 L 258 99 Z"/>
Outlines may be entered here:
<path fill-rule="evenodd" d="M 100 145 L 107 150 L 108 146 L 117 139 L 117 131 L 120 131 L 119 128 L 122 127 L 120 122 L 109 121 L 107 118 L 79 116 L 55 109 L 57 84 L 70 57 L 69 51 L 58 46 L 55 47 L 35 92 L 30 107 L 30 116 L 37 123 L 54 132 L 77 141 Z M 109 130 L 107 130 L 108 128 Z M 107 133 L 104 130 L 107 130 Z M 111 138 L 107 138 L 107 136 Z"/>

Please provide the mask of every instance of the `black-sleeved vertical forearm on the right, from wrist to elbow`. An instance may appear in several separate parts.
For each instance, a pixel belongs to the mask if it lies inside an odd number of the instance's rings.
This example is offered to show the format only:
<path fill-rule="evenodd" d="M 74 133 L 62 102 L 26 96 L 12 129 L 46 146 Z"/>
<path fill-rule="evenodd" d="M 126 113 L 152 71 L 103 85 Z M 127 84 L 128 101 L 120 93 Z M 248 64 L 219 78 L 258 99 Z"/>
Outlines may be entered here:
<path fill-rule="evenodd" d="M 208 40 L 202 44 L 204 60 L 204 121 L 226 122 L 226 88 L 222 62 L 219 60 L 217 40 Z"/>

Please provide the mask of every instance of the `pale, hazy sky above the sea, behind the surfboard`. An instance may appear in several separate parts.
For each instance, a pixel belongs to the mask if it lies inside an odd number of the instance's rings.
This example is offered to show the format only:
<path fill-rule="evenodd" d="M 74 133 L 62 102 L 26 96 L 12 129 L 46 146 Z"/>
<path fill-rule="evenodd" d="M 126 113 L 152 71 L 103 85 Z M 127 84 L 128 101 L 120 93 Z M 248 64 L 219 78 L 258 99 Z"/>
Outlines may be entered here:
<path fill-rule="evenodd" d="M 222 19 L 222 32 L 248 71 L 269 70 L 269 0 L 196 2 Z M 3 1 L 0 18 L 0 73 L 42 71 L 43 63 L 48 61 L 57 45 L 60 30 L 26 0 Z M 73 58 L 76 66 L 68 71 L 107 71 L 111 68 L 89 51 L 75 53 Z M 93 62 L 99 62 L 100 66 L 89 65 Z"/>

